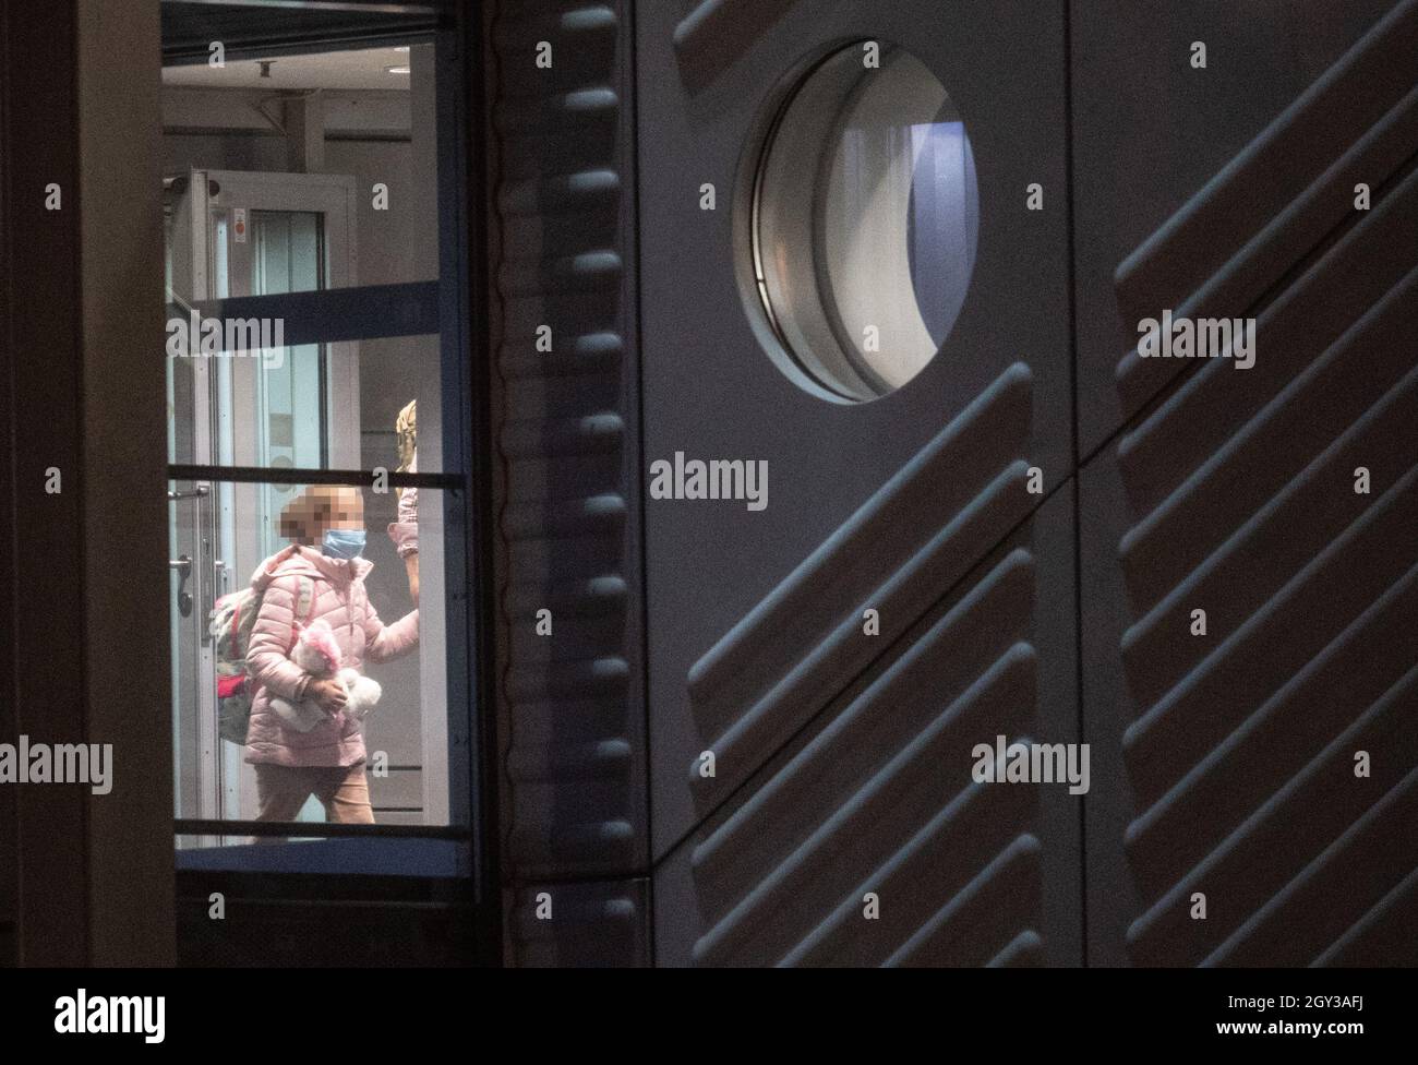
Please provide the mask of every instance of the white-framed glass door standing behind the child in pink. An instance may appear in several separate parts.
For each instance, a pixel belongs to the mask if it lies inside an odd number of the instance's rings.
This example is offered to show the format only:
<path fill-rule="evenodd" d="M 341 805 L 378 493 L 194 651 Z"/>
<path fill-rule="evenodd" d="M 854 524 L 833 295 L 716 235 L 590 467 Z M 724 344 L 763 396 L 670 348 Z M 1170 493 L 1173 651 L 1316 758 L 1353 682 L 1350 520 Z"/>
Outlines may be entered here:
<path fill-rule="evenodd" d="M 354 284 L 354 182 L 332 174 L 191 170 L 169 221 L 169 450 L 174 464 L 359 467 L 356 345 L 288 343 L 252 296 Z M 177 817 L 251 818 L 254 776 L 217 729 L 208 617 L 284 546 L 286 484 L 173 484 L 170 581 Z M 302 820 L 320 820 L 313 800 Z M 194 838 L 199 845 L 217 838 Z"/>

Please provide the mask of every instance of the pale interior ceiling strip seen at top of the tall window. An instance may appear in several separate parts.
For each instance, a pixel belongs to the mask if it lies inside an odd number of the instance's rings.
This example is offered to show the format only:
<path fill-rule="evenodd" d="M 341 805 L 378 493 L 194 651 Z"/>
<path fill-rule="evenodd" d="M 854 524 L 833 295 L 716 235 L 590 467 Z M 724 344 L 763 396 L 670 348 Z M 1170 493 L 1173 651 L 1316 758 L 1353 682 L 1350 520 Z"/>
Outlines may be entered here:
<path fill-rule="evenodd" d="M 268 62 L 269 77 L 261 77 Z M 227 57 L 225 67 L 193 64 L 163 68 L 164 85 L 196 85 L 220 89 L 408 89 L 407 74 L 390 74 L 390 67 L 408 67 L 408 51 L 397 47 L 323 51 L 306 55 L 277 55 L 267 60 Z"/>

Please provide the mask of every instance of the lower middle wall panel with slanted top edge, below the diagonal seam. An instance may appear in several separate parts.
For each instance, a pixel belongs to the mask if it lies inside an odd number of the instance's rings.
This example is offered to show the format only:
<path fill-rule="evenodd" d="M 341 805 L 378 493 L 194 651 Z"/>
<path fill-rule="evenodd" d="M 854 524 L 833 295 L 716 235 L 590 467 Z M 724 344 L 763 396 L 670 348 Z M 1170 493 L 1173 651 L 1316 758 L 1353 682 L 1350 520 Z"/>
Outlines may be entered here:
<path fill-rule="evenodd" d="M 997 735 L 1076 740 L 1072 506 L 1066 485 L 662 864 L 659 963 L 1081 963 L 1082 800 L 970 773 Z"/>

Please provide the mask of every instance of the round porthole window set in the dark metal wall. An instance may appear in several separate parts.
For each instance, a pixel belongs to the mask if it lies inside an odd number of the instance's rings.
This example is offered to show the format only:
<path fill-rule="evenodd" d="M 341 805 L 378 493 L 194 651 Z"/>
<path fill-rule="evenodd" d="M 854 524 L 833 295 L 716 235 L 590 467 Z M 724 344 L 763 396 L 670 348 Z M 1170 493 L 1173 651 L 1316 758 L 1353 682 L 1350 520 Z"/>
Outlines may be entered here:
<path fill-rule="evenodd" d="M 980 208 L 964 123 L 915 55 L 859 41 L 813 68 L 769 130 L 750 213 L 754 302 L 790 376 L 873 400 L 940 350 Z"/>

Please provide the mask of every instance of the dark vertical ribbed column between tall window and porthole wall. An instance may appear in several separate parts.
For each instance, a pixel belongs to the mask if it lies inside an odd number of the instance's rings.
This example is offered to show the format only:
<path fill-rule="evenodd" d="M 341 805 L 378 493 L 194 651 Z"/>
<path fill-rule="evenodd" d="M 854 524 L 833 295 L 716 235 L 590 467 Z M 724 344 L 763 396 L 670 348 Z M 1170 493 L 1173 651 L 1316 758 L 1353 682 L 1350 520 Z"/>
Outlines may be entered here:
<path fill-rule="evenodd" d="M 647 848 L 628 26 L 620 3 L 509 0 L 492 43 L 503 857 L 515 881 L 630 875 Z"/>

